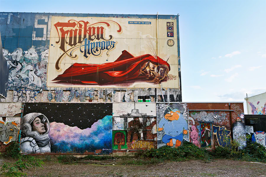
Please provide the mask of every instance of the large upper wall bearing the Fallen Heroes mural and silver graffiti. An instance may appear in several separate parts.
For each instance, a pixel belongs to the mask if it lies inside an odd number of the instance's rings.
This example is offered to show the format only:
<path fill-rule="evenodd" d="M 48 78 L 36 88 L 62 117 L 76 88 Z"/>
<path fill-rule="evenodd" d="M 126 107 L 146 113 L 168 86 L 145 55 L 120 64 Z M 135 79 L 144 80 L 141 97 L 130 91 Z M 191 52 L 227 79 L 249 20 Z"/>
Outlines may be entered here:
<path fill-rule="evenodd" d="M 178 16 L 156 24 L 156 15 L 1 12 L 12 101 L 182 101 Z"/>

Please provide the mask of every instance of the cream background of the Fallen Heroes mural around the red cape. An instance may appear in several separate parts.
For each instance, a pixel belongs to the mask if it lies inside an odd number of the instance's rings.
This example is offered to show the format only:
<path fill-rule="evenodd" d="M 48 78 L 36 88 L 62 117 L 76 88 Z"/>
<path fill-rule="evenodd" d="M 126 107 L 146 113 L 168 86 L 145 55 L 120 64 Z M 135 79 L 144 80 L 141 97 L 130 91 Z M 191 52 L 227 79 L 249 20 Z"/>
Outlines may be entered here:
<path fill-rule="evenodd" d="M 143 24 L 132 24 L 132 23 Z M 145 23 L 147 22 L 147 23 Z M 167 22 L 173 23 L 174 35 L 167 37 Z M 91 38 L 87 34 L 84 37 L 84 26 L 87 25 L 87 32 L 92 34 Z M 91 25 L 93 24 L 93 25 Z M 179 88 L 178 80 L 178 52 L 177 52 L 177 29 L 176 20 L 174 19 L 159 19 L 159 55 L 163 61 L 167 61 L 170 65 L 168 76 L 172 79 L 164 79 L 161 84 L 164 88 Z M 91 26 L 89 26 L 91 25 Z M 80 28 L 79 28 L 80 27 Z M 94 31 L 95 30 L 95 31 Z M 98 32 L 98 33 L 97 33 Z M 74 63 L 100 65 L 111 63 L 126 50 L 134 57 L 145 54 L 152 56 L 157 55 L 157 34 L 156 34 L 156 19 L 133 19 L 133 18 L 107 18 L 107 17 L 52 17 L 49 60 L 48 60 L 48 87 L 129 87 L 129 88 L 154 88 L 160 87 L 159 81 L 150 79 L 151 81 L 140 81 L 135 78 L 135 81 L 129 79 L 129 74 L 125 78 L 121 77 L 121 81 L 111 80 L 108 84 L 97 84 L 98 81 L 76 83 L 74 75 Z M 80 35 L 81 34 L 81 35 Z M 95 35 L 94 35 L 95 34 Z M 76 35 L 76 37 L 74 37 Z M 81 37 L 80 37 L 81 36 Z M 80 37 L 80 38 L 79 38 Z M 97 38 L 98 37 L 98 38 Z M 112 37 L 111 40 L 110 37 Z M 85 38 L 87 40 L 85 40 Z M 89 40 L 90 38 L 90 40 Z M 171 39 L 174 42 L 173 46 L 167 45 L 167 41 Z M 86 43 L 85 43 L 86 42 Z M 101 42 L 100 44 L 98 42 Z M 95 49 L 95 47 L 98 49 Z M 101 45 L 101 47 L 99 46 Z M 85 52 L 85 46 L 87 53 Z M 108 46 L 108 47 L 106 47 Z M 94 47 L 94 48 L 93 48 Z M 92 50 L 93 49 L 93 50 Z M 103 49 L 103 50 L 101 50 Z M 64 52 L 65 51 L 65 52 Z M 61 58 L 60 58 L 61 57 Z M 60 59 L 59 59 L 60 58 Z M 160 62 L 161 63 L 161 62 Z M 115 64 L 113 64 L 115 65 Z M 124 71 L 129 70 L 128 63 L 122 63 Z M 85 67 L 84 67 L 85 66 Z M 99 67 L 100 67 L 99 66 Z M 88 71 L 88 65 L 80 65 L 80 69 Z M 97 66 L 96 66 L 97 67 Z M 139 67 L 139 66 L 137 66 Z M 144 67 L 143 65 L 141 68 Z M 141 68 L 139 68 L 141 70 Z M 67 70 L 68 69 L 68 70 Z M 155 68 L 152 68 L 156 70 Z M 68 81 L 59 82 L 53 81 L 57 76 L 68 73 L 65 76 L 69 77 Z M 72 72 L 72 73 L 71 73 Z M 76 72 L 76 70 L 75 70 Z M 86 77 L 86 72 L 81 73 Z M 116 69 L 113 69 L 113 73 Z M 139 71 L 140 72 L 140 71 Z M 111 73 L 110 75 L 112 75 Z M 147 70 L 148 73 L 148 70 Z M 101 74 L 101 73 L 100 73 Z M 95 71 L 95 77 L 100 75 Z M 96 76 L 97 75 L 97 76 Z M 153 76 L 150 74 L 149 76 Z M 72 78 L 71 78 L 72 77 Z M 94 76 L 93 76 L 94 77 Z M 99 76 L 102 81 L 105 78 Z M 175 79 L 173 79 L 175 78 Z M 88 80 L 85 78 L 84 80 Z M 130 80 L 130 82 L 129 82 Z"/>

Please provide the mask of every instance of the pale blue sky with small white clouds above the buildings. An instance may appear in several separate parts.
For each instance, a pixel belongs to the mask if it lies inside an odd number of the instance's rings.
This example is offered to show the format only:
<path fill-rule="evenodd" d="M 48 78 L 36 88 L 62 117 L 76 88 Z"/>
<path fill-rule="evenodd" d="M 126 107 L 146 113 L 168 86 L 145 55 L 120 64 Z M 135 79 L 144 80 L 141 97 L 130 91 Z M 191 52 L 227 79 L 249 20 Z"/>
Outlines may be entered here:
<path fill-rule="evenodd" d="M 184 102 L 244 101 L 246 93 L 266 92 L 265 7 L 266 1 L 0 0 L 1 12 L 179 14 Z"/>

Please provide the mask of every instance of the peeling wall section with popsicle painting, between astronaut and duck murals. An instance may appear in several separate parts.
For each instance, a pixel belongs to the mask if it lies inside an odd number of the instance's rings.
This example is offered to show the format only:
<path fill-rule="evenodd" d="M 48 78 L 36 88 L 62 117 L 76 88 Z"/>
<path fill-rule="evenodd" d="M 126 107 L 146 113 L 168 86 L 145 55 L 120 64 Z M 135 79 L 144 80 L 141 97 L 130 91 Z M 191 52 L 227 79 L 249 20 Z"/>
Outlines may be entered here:
<path fill-rule="evenodd" d="M 113 103 L 113 149 L 157 147 L 155 103 Z"/>

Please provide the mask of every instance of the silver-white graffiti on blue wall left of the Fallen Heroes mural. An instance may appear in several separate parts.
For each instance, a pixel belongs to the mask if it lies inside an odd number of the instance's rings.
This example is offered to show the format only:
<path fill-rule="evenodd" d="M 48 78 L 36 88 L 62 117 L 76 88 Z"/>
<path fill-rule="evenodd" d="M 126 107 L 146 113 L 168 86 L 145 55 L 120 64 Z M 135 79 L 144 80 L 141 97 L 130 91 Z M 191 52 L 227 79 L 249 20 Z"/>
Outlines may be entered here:
<path fill-rule="evenodd" d="M 47 63 L 39 61 L 34 48 L 16 48 L 11 54 L 5 50 L 4 55 L 10 64 L 9 89 L 42 90 L 43 84 L 46 86 Z"/>

